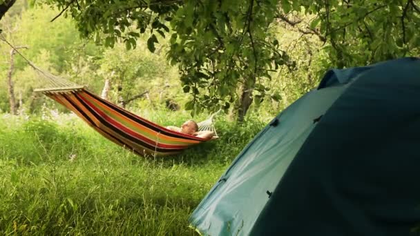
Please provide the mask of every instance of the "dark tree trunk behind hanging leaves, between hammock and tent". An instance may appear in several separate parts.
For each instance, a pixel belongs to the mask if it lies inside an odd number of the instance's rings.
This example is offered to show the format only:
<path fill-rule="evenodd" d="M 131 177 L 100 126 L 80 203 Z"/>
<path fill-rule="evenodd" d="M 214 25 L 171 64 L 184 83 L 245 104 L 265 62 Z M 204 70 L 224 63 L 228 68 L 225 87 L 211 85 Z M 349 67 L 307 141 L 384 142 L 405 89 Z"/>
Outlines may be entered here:
<path fill-rule="evenodd" d="M 236 105 L 236 121 L 238 123 L 244 121 L 248 108 L 252 104 L 252 92 L 254 91 L 255 82 L 255 78 L 253 77 L 253 79 L 245 81 L 245 83 L 242 83 L 242 86 L 240 86 L 240 99 Z"/>

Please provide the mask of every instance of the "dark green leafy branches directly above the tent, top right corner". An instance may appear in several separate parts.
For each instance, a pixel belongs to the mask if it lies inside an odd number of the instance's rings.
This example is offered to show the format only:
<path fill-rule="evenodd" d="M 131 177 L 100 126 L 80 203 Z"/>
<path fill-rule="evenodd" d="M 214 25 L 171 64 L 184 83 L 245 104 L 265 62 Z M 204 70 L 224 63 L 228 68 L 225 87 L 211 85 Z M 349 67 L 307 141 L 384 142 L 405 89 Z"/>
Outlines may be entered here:
<path fill-rule="evenodd" d="M 303 7 L 315 15 L 300 31 L 325 41 L 323 50 L 338 68 L 419 54 L 419 1 L 283 2 L 289 4 L 283 4 L 285 14 Z"/>

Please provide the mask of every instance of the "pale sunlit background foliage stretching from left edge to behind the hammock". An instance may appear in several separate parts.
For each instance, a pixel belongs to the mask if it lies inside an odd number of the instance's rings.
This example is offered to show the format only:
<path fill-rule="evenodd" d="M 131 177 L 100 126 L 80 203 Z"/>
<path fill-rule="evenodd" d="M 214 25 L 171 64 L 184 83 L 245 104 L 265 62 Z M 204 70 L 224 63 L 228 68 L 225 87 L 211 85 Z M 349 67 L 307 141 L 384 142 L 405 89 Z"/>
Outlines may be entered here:
<path fill-rule="evenodd" d="M 21 1 L 17 1 L 14 7 L 21 5 Z M 19 9 L 12 8 L 12 12 L 19 12 Z M 121 83 L 123 90 L 115 92 L 111 96 L 112 101 L 117 101 L 118 96 L 131 99 L 145 90 L 149 91 L 150 101 L 143 102 L 142 106 L 159 106 L 166 98 L 184 101 L 185 96 L 177 91 L 180 82 L 173 79 L 178 71 L 164 60 L 164 49 L 158 55 L 148 52 L 146 43 L 141 42 L 137 44 L 136 50 L 126 50 L 122 43 L 116 43 L 114 48 L 95 46 L 79 39 L 74 24 L 68 19 L 48 22 L 54 16 L 54 10 L 46 6 L 28 10 L 23 8 L 21 15 L 7 14 L 3 18 L 2 35 L 15 46 L 28 46 L 28 49 L 19 51 L 37 67 L 86 85 L 97 94 L 100 94 L 104 80 L 115 71 L 115 85 Z M 1 43 L 0 58 L 4 63 L 0 64 L 0 74 L 3 77 L 6 77 L 9 68 L 10 49 L 6 43 Z M 45 77 L 28 66 L 19 55 L 15 55 L 15 61 L 12 80 L 15 83 L 15 96 L 19 101 L 21 98 L 23 104 L 19 109 L 30 113 L 40 112 L 46 104 L 50 108 L 64 111 L 52 100 L 32 92 L 34 88 L 45 85 Z M 10 106 L 6 80 L 0 81 L 0 90 L 3 91 L 0 92 L 0 109 L 7 112 Z M 117 90 L 117 86 L 114 90 Z M 130 105 L 136 106 L 134 102 Z"/>

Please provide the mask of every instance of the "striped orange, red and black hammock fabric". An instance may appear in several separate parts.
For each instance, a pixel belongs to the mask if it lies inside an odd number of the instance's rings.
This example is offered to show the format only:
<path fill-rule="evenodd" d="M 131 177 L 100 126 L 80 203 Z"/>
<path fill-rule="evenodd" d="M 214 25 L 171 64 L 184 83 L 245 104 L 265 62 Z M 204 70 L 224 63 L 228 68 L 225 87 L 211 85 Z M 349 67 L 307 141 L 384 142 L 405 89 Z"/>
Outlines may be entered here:
<path fill-rule="evenodd" d="M 153 124 L 94 95 L 82 86 L 38 91 L 75 112 L 107 139 L 138 155 L 174 155 L 206 141 Z"/>

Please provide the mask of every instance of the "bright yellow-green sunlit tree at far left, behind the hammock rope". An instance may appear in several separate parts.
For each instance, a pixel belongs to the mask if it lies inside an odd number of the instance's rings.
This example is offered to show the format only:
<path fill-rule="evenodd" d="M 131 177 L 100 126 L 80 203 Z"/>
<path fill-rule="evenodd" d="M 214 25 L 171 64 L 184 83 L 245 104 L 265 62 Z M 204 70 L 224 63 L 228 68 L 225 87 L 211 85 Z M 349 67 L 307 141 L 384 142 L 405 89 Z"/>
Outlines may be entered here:
<path fill-rule="evenodd" d="M 21 9 L 17 9 L 20 7 Z M 17 13 L 19 12 L 19 13 Z M 13 13 L 13 14 L 11 14 Z M 73 50 L 83 43 L 79 39 L 77 30 L 70 22 L 70 19 L 60 19 L 54 26 L 46 28 L 44 23 L 50 21 L 57 14 L 49 8 L 30 8 L 25 10 L 21 1 L 17 1 L 13 8 L 3 17 L 1 21 L 1 39 L 7 39 L 17 47 L 17 50 L 30 61 L 44 70 L 62 75 L 70 70 L 70 61 L 73 61 Z M 30 33 L 28 33 L 30 32 Z M 48 35 L 46 37 L 46 35 Z M 22 50 L 19 46 L 28 46 Z M 85 52 L 86 50 L 82 50 Z M 44 82 L 39 73 L 34 72 L 28 63 L 22 59 L 15 50 L 12 50 L 6 43 L 0 44 L 0 89 L 8 93 L 1 93 L 0 100 L 8 101 L 9 106 L 1 103 L 1 109 L 16 114 L 17 106 L 22 101 L 24 107 L 31 108 L 33 95 L 32 90 L 39 88 Z M 21 99 L 20 99 L 21 97 Z M 46 101 L 44 97 L 39 102 Z"/>

